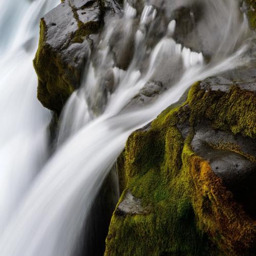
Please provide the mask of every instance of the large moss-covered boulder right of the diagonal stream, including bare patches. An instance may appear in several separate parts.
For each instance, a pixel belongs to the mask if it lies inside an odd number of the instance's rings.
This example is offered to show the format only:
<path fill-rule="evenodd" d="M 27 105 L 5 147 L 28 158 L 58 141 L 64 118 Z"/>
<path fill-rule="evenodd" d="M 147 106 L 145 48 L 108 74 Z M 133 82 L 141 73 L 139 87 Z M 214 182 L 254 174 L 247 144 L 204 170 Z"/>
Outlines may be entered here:
<path fill-rule="evenodd" d="M 255 254 L 253 73 L 197 82 L 129 137 L 105 255 Z"/>

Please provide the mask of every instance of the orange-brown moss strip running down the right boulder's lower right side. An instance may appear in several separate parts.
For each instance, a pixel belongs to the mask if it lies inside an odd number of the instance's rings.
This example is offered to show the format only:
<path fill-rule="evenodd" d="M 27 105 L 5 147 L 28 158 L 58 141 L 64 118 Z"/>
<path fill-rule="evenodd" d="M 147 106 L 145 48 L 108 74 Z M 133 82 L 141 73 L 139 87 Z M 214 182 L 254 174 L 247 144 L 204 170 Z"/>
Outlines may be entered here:
<path fill-rule="evenodd" d="M 256 221 L 236 203 L 210 165 L 193 155 L 187 158 L 194 182 L 193 207 L 199 228 L 210 234 L 227 255 L 243 255 L 256 249 Z"/>

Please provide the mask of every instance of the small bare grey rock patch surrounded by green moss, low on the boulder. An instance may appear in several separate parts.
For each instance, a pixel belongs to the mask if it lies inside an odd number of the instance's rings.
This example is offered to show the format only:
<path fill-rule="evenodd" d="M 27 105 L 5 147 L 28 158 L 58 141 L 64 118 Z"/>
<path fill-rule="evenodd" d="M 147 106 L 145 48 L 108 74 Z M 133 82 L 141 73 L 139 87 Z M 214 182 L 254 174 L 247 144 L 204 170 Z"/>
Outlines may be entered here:
<path fill-rule="evenodd" d="M 118 216 L 125 215 L 136 215 L 136 214 L 148 214 L 150 212 L 149 207 L 142 207 L 141 200 L 132 195 L 131 191 L 128 190 L 118 205 L 115 214 Z"/>

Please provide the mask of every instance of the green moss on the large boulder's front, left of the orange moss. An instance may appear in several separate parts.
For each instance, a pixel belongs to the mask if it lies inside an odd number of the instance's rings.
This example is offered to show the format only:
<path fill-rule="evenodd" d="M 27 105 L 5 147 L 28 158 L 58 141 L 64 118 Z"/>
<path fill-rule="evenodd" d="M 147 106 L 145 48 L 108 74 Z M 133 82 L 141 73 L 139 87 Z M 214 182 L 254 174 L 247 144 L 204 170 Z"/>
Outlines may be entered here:
<path fill-rule="evenodd" d="M 127 141 L 124 180 L 152 212 L 114 215 L 105 255 L 210 255 L 211 242 L 197 228 L 189 176 L 182 167 L 184 141 L 173 125 L 177 113 L 170 112 L 165 125 L 155 122 L 156 128 L 137 131 Z"/>

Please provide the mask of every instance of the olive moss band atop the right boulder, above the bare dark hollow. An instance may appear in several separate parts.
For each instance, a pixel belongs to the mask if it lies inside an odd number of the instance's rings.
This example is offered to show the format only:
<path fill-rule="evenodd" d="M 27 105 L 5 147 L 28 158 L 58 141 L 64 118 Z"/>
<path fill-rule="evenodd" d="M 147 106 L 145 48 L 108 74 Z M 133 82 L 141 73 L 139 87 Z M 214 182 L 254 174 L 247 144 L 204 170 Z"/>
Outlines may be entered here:
<path fill-rule="evenodd" d="M 253 92 L 235 86 L 228 93 L 205 92 L 198 84 L 192 90 L 193 94 L 188 98 L 191 123 L 205 117 L 212 121 L 215 129 L 256 138 L 256 97 Z"/>

